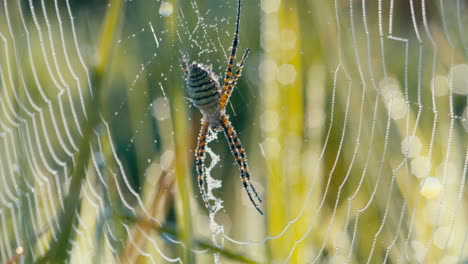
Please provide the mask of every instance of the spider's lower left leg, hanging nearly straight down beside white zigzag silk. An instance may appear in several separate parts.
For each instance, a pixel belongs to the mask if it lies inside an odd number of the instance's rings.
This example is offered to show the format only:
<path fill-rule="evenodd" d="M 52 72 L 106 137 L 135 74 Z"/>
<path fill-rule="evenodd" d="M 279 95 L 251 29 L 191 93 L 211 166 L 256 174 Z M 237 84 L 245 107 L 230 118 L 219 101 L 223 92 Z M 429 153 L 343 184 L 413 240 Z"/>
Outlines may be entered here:
<path fill-rule="evenodd" d="M 206 205 L 206 208 L 213 212 L 210 204 L 208 203 L 208 197 L 206 196 L 205 192 L 205 168 L 203 167 L 205 162 L 205 146 L 206 146 L 206 135 L 208 134 L 208 121 L 202 120 L 202 127 L 200 129 L 200 135 L 198 136 L 198 144 L 197 149 L 195 151 L 196 161 L 195 166 L 197 168 L 197 175 L 198 175 L 198 188 L 200 189 L 200 193 L 203 199 L 203 202 Z"/>

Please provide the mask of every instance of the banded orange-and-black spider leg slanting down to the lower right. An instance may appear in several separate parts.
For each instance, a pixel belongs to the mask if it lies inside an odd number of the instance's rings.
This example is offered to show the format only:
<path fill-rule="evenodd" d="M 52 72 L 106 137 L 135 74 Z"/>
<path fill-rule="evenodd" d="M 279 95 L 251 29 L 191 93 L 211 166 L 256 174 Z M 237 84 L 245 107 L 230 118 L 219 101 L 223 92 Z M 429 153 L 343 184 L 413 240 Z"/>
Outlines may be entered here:
<path fill-rule="evenodd" d="M 249 173 L 249 169 L 247 165 L 247 156 L 245 154 L 244 148 L 242 147 L 240 139 L 237 137 L 236 132 L 232 128 L 231 123 L 229 122 L 229 119 L 226 115 L 221 116 L 221 126 L 224 129 L 224 135 L 226 136 L 226 139 L 229 143 L 229 147 L 231 148 L 232 155 L 236 159 L 236 163 L 239 166 L 242 186 L 247 192 L 250 202 L 252 202 L 252 204 L 255 206 L 255 209 L 257 209 L 257 211 L 261 215 L 263 215 L 262 210 L 260 210 L 257 203 L 253 199 L 253 196 L 255 195 L 255 198 L 257 198 L 259 202 L 262 202 L 262 199 L 260 199 L 257 191 L 255 190 L 255 187 L 250 181 L 250 173 Z M 251 193 L 249 187 L 250 189 L 252 189 L 254 194 Z"/>

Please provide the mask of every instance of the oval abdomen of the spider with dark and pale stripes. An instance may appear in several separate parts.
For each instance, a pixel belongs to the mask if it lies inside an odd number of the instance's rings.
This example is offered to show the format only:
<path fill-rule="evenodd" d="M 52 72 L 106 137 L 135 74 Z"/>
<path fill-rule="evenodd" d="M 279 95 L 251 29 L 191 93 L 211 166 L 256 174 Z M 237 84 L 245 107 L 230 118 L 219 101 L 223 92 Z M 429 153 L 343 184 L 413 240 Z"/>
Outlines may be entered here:
<path fill-rule="evenodd" d="M 187 93 L 193 104 L 204 114 L 211 114 L 219 107 L 219 84 L 216 77 L 203 65 L 193 63 L 189 67 Z"/>

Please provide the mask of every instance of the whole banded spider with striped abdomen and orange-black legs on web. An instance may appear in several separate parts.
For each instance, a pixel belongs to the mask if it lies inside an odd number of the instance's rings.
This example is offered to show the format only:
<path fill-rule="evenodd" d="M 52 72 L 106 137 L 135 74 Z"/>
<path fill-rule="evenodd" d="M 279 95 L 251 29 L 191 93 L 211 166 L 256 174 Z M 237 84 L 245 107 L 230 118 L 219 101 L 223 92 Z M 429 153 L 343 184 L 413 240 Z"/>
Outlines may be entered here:
<path fill-rule="evenodd" d="M 241 0 L 238 0 L 236 28 L 231 46 L 231 55 L 229 56 L 228 67 L 225 72 L 223 87 L 220 86 L 218 77 L 211 71 L 211 67 L 207 67 L 203 64 L 197 63 L 196 61 L 189 65 L 188 59 L 184 57 L 182 59 L 182 70 L 185 73 L 185 80 L 187 81 L 189 100 L 201 111 L 203 115 L 200 135 L 198 137 L 198 144 L 195 151 L 195 166 L 198 174 L 198 187 L 200 188 L 200 193 L 206 207 L 208 210 L 213 212 L 210 204 L 208 203 L 204 187 L 206 137 L 208 131 L 211 129 L 215 132 L 224 132 L 229 143 L 231 153 L 239 166 L 242 186 L 257 211 L 263 215 L 263 212 L 255 201 L 255 199 L 257 199 L 261 203 L 262 199 L 258 196 L 255 187 L 250 181 L 250 172 L 247 165 L 245 150 L 242 147 L 239 137 L 236 135 L 236 131 L 229 121 L 229 116 L 226 115 L 226 104 L 229 101 L 229 97 L 231 96 L 237 80 L 242 73 L 242 68 L 244 67 L 247 55 L 249 54 L 249 49 L 246 49 L 242 56 L 242 60 L 237 65 L 238 67 L 233 75 L 233 63 L 236 57 L 237 45 L 239 43 L 240 12 Z"/>

